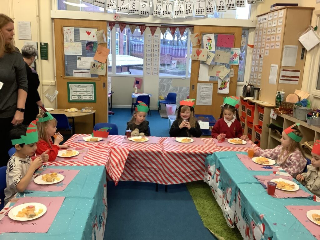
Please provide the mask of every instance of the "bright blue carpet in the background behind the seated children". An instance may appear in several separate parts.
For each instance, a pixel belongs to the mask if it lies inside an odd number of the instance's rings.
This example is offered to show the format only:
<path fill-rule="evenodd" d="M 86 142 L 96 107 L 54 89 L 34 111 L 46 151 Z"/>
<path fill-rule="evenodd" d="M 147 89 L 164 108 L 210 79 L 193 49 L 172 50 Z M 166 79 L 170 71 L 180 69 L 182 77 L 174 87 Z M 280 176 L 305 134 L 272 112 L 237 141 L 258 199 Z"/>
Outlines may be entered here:
<path fill-rule="evenodd" d="M 109 116 L 109 123 L 117 124 L 119 135 L 124 135 L 127 128 L 127 122 L 130 121 L 130 108 L 112 108 L 115 114 Z M 161 118 L 157 110 L 151 110 L 151 116 L 147 115 L 146 120 L 149 121 L 151 136 L 169 137 L 169 120 Z"/>

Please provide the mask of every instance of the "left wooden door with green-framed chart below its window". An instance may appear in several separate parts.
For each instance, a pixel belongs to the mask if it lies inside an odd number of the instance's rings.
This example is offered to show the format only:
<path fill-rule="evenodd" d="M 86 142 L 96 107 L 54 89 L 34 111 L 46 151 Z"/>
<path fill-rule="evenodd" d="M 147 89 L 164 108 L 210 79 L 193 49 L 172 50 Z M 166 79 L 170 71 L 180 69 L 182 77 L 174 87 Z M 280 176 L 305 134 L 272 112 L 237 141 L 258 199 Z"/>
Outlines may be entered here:
<path fill-rule="evenodd" d="M 76 33 L 76 29 L 79 28 L 97 28 L 98 30 L 104 30 L 107 33 L 106 21 L 94 21 L 94 20 L 71 20 L 71 19 L 54 19 L 54 37 L 55 37 L 55 55 L 56 55 L 56 78 L 57 78 L 57 90 L 59 94 L 57 96 L 58 108 L 78 108 L 79 111 L 83 107 L 93 107 L 96 110 L 95 122 L 108 122 L 108 86 L 107 86 L 107 74 L 97 75 L 96 77 L 74 77 L 66 69 L 77 68 L 76 58 L 79 55 L 66 55 L 64 54 L 64 31 L 63 27 L 73 27 Z M 74 35 L 76 35 L 74 33 Z M 76 38 L 76 36 L 74 36 Z M 76 41 L 75 41 L 76 42 Z M 86 43 L 89 41 L 80 41 L 82 44 L 82 55 L 93 57 L 94 52 L 86 51 Z M 101 44 L 107 47 L 107 43 Z M 70 58 L 76 56 L 76 58 Z M 70 60 L 71 59 L 71 60 Z M 69 66 L 68 66 L 69 65 Z M 82 68 L 81 68 L 82 69 Z M 91 76 L 91 75 L 90 75 Z M 95 102 L 68 102 L 68 84 L 67 82 L 83 82 L 83 83 L 95 83 L 96 101 Z M 63 113 L 63 112 L 61 112 Z M 92 115 L 76 117 L 75 118 L 76 133 L 92 132 Z"/>

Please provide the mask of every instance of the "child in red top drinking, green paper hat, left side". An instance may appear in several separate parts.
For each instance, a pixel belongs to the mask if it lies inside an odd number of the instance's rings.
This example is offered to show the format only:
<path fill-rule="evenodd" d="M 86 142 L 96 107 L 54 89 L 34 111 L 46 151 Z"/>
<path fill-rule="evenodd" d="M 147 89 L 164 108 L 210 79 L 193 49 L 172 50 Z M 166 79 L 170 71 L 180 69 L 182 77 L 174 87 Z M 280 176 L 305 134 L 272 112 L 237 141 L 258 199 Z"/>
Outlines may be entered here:
<path fill-rule="evenodd" d="M 45 112 L 44 115 L 38 114 L 37 119 L 39 141 L 37 143 L 36 154 L 42 154 L 49 150 L 49 161 L 52 162 L 58 156 L 60 148 L 70 148 L 70 145 L 59 145 L 63 141 L 62 135 L 58 135 L 54 139 L 54 143 L 52 142 L 51 137 L 57 130 L 57 120 L 49 112 Z"/>

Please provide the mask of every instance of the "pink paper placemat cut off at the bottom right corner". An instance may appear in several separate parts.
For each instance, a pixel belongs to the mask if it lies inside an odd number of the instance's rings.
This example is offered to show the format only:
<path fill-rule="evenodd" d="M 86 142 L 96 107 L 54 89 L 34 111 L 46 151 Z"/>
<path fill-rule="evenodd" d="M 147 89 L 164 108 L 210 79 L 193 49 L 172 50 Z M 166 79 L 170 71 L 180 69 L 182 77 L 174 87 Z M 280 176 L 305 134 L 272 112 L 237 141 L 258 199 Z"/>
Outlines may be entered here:
<path fill-rule="evenodd" d="M 305 228 L 308 229 L 316 239 L 320 240 L 320 226 L 311 222 L 307 217 L 307 212 L 310 210 L 320 210 L 320 205 L 318 206 L 285 206 L 296 219 L 301 222 Z"/>

